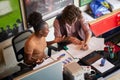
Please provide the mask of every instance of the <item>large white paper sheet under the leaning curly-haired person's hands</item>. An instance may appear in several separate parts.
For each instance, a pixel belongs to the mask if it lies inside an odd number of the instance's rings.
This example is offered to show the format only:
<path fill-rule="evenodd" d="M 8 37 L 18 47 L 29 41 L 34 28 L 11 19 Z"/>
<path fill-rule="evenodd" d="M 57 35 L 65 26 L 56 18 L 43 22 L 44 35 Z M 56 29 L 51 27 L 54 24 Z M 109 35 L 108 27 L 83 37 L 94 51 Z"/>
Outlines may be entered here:
<path fill-rule="evenodd" d="M 92 37 L 89 41 L 88 50 L 80 50 L 80 45 L 69 44 L 67 45 L 67 52 L 70 53 L 74 58 L 83 58 L 93 51 L 104 50 L 104 39 Z"/>

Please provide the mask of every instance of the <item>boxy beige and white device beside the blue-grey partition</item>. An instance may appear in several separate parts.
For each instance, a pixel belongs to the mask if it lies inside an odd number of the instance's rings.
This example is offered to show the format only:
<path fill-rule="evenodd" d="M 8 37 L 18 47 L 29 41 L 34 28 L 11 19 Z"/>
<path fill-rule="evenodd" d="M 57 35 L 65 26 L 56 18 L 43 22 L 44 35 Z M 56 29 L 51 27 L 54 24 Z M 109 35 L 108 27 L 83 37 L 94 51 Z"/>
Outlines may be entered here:
<path fill-rule="evenodd" d="M 84 70 L 77 62 L 64 65 L 64 74 L 69 77 L 69 80 L 85 80 Z"/>

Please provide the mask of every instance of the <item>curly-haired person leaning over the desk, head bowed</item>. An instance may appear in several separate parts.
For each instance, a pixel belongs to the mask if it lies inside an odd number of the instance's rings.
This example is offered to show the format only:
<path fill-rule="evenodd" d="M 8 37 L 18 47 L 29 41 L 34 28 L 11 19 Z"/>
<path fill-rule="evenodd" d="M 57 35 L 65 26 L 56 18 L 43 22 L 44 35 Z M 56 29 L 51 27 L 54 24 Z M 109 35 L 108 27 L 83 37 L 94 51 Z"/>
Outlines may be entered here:
<path fill-rule="evenodd" d="M 56 17 L 53 25 L 58 47 L 73 43 L 82 45 L 81 49 L 83 50 L 88 49 L 87 44 L 92 33 L 78 7 L 75 5 L 66 6 L 62 13 Z"/>

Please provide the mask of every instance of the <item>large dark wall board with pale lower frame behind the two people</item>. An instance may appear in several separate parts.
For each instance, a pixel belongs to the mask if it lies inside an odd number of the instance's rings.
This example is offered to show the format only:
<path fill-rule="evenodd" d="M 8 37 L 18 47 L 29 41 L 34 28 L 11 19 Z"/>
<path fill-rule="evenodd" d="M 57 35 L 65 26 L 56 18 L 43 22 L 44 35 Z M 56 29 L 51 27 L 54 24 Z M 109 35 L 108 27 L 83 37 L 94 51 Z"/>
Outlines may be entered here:
<path fill-rule="evenodd" d="M 61 10 L 69 4 L 73 4 L 74 0 L 23 0 L 26 12 L 26 19 L 33 11 L 40 12 L 44 20 L 50 19 L 58 15 Z"/>

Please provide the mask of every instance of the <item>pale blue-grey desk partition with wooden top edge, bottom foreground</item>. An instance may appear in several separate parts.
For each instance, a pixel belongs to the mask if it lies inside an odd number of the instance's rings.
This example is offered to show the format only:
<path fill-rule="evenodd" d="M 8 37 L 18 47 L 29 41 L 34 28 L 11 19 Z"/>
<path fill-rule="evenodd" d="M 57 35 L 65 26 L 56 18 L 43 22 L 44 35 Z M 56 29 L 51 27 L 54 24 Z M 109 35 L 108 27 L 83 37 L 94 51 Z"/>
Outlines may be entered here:
<path fill-rule="evenodd" d="M 55 61 L 46 67 L 30 71 L 14 80 L 63 80 L 62 62 Z"/>

